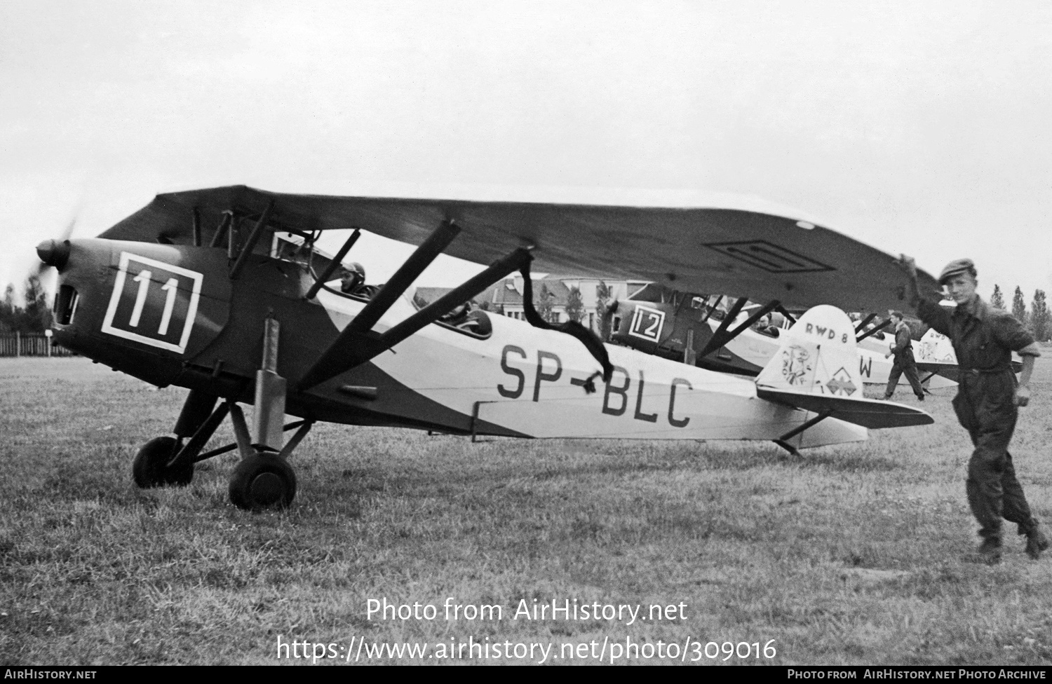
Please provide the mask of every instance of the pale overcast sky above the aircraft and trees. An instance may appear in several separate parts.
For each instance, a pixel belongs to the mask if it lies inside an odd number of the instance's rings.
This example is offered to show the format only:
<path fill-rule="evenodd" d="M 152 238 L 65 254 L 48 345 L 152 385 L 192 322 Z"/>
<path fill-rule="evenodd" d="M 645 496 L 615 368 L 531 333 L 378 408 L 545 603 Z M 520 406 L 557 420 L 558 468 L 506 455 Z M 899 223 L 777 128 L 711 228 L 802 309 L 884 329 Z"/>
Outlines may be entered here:
<path fill-rule="evenodd" d="M 3 0 L 0 287 L 70 222 L 245 184 L 756 195 L 1029 302 L 1052 290 L 1050 74 L 1047 2 Z M 404 253 L 349 258 L 382 282 Z"/>

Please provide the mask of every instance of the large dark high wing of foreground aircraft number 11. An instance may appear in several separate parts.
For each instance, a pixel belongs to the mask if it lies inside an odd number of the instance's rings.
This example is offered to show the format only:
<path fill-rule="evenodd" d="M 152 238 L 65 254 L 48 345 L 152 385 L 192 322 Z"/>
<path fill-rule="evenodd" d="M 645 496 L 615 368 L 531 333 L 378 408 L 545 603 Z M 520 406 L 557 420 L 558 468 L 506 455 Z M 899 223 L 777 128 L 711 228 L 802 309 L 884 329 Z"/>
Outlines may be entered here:
<path fill-rule="evenodd" d="M 802 214 L 726 196 L 708 206 L 660 207 L 341 198 L 230 186 L 160 194 L 100 237 L 187 244 L 196 209 L 207 244 L 223 211 L 259 216 L 271 201 L 269 225 L 289 232 L 359 227 L 420 244 L 453 221 L 462 232 L 446 253 L 479 264 L 530 246 L 535 271 L 652 281 L 786 307 L 903 306 L 904 276 L 891 254 Z M 931 275 L 919 276 L 922 291 L 937 289 Z"/>

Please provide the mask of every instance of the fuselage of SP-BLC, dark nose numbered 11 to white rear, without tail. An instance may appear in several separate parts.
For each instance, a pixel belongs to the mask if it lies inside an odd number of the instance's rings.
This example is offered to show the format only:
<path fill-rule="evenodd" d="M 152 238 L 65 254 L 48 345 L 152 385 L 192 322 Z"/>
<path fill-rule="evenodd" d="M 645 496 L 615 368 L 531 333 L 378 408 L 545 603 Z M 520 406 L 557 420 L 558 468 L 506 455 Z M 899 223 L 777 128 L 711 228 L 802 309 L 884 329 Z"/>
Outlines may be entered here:
<path fill-rule="evenodd" d="M 461 434 L 639 439 L 776 439 L 813 414 L 761 399 L 754 382 L 607 345 L 609 382 L 576 340 L 489 315 L 480 335 L 430 324 L 369 361 L 298 387 L 366 300 L 312 284 L 300 263 L 250 255 L 237 277 L 223 248 L 108 240 L 69 243 L 55 340 L 157 386 L 251 403 L 267 318 L 280 323 L 277 373 L 288 414 Z M 75 294 L 74 294 L 75 292 Z M 399 298 L 373 330 L 416 311 Z M 856 441 L 833 418 L 796 445 Z"/>

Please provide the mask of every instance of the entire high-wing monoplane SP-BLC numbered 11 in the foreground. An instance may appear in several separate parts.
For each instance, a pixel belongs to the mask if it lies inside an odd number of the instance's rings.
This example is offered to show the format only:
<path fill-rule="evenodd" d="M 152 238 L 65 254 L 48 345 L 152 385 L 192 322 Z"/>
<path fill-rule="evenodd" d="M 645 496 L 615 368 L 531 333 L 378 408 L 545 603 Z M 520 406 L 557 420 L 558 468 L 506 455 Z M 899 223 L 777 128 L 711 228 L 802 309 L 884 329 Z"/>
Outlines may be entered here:
<path fill-rule="evenodd" d="M 315 241 L 331 229 L 351 233 L 327 258 Z M 330 282 L 363 230 L 417 249 L 360 296 Z M 136 483 L 186 484 L 196 462 L 238 450 L 229 494 L 247 510 L 292 501 L 288 459 L 319 420 L 462 435 L 760 439 L 791 452 L 932 422 L 862 397 L 854 329 L 841 310 L 898 306 L 894 257 L 758 201 L 672 208 L 232 186 L 160 194 L 97 239 L 45 241 L 37 251 L 58 271 L 55 341 L 189 389 L 174 436 L 136 456 Z M 418 309 L 406 291 L 443 252 L 491 263 Z M 576 325 L 544 329 L 537 316 L 442 320 L 513 271 L 528 283 L 531 263 L 773 306 L 834 306 L 806 313 L 756 378 L 604 345 Z M 240 403 L 255 406 L 250 426 Z M 299 420 L 283 424 L 286 414 Z M 205 452 L 227 416 L 236 443 Z"/>

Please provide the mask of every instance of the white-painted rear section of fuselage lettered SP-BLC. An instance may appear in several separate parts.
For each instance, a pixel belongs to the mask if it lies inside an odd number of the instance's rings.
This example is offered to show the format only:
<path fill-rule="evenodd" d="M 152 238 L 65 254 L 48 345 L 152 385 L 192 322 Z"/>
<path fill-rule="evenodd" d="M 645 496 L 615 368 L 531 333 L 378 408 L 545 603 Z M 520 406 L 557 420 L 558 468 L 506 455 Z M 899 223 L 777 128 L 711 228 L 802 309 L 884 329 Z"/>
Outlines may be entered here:
<path fill-rule="evenodd" d="M 338 329 L 364 304 L 319 293 Z M 400 298 L 377 324 L 383 331 L 414 311 Z M 450 409 L 534 437 L 620 439 L 775 439 L 813 417 L 760 399 L 749 378 L 715 373 L 607 345 L 616 371 L 609 385 L 581 343 L 497 314 L 487 339 L 426 326 L 372 362 L 399 382 Z M 574 385 L 571 380 L 578 380 Z M 642 387 L 642 391 L 641 391 Z M 803 447 L 866 439 L 866 429 L 827 419 Z"/>

